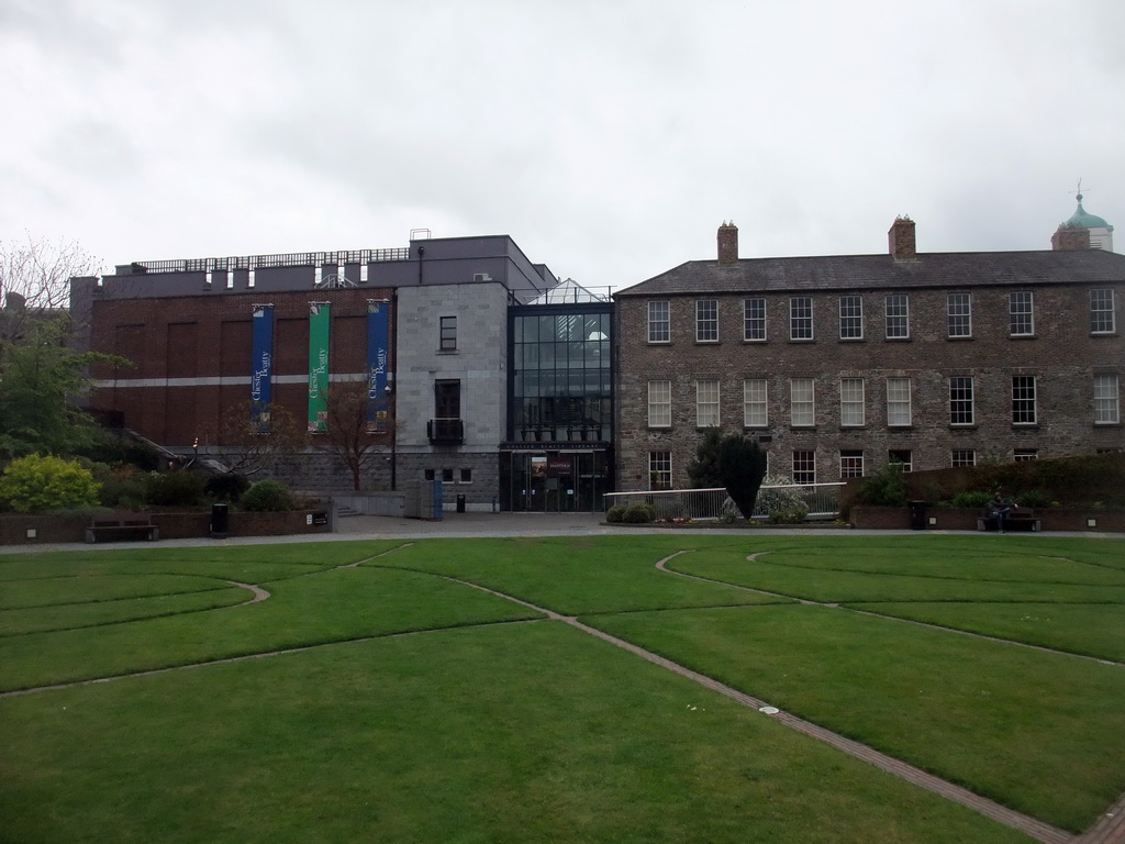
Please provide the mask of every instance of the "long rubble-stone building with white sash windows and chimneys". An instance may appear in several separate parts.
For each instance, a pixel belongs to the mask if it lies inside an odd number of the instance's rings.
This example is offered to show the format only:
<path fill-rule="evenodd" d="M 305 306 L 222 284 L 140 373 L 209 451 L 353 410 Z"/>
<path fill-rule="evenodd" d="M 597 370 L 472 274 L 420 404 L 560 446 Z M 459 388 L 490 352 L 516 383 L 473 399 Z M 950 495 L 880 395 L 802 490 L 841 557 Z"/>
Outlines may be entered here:
<path fill-rule="evenodd" d="M 711 425 L 798 483 L 1125 448 L 1125 257 L 1092 222 L 1051 251 L 919 253 L 900 218 L 888 254 L 762 259 L 723 224 L 717 260 L 614 295 L 620 488 L 688 486 Z"/>

